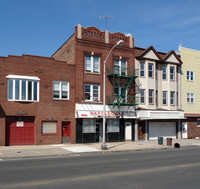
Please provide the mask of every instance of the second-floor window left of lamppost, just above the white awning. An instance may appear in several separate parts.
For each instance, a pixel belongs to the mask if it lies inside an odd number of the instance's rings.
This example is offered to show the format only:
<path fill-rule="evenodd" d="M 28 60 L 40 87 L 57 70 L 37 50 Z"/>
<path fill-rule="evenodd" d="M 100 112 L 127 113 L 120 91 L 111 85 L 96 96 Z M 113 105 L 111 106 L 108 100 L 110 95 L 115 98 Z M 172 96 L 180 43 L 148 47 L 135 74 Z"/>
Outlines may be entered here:
<path fill-rule="evenodd" d="M 99 85 L 85 85 L 85 100 L 99 101 Z"/>

